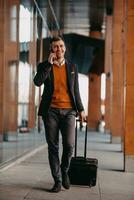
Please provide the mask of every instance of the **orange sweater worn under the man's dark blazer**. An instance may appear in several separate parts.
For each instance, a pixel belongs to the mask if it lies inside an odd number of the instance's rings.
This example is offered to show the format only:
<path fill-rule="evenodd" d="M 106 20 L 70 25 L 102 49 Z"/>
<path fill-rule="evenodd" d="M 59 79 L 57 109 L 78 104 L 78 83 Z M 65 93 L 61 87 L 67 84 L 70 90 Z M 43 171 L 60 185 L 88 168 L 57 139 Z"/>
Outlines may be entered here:
<path fill-rule="evenodd" d="M 54 93 L 52 97 L 51 107 L 54 108 L 72 108 L 71 98 L 68 93 L 67 75 L 65 64 L 58 67 L 53 66 L 54 74 Z"/>

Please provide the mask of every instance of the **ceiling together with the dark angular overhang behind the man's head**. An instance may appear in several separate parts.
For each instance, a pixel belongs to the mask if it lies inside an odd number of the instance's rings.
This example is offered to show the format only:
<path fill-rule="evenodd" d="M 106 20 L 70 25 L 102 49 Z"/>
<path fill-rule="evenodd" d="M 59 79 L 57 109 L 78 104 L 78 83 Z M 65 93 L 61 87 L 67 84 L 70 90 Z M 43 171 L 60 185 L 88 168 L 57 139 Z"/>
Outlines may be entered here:
<path fill-rule="evenodd" d="M 78 71 L 100 75 L 104 71 L 104 38 L 91 38 L 91 31 L 105 29 L 106 15 L 113 13 L 113 0 L 21 0 L 37 11 L 38 39 L 44 38 L 43 59 L 49 54 L 49 39 L 62 34 L 67 57 L 78 65 Z M 40 43 L 38 45 L 38 51 Z"/>

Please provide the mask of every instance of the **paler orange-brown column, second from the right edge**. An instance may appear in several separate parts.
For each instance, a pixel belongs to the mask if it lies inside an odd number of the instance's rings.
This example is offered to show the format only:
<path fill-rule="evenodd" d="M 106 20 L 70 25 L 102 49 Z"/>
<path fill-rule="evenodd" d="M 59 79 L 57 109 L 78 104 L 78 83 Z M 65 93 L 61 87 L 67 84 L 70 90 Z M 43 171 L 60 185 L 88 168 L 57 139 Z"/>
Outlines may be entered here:
<path fill-rule="evenodd" d="M 113 45 L 112 45 L 112 113 L 111 132 L 124 138 L 124 20 L 125 1 L 114 1 Z"/>

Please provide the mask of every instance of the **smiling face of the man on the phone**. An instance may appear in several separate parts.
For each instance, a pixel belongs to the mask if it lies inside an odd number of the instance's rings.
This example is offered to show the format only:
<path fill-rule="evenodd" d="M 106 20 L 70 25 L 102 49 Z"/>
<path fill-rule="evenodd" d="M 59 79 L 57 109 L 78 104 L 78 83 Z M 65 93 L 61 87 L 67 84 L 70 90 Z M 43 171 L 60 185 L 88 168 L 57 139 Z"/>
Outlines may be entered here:
<path fill-rule="evenodd" d="M 64 58 L 66 47 L 62 40 L 52 42 L 52 51 L 58 59 Z"/>

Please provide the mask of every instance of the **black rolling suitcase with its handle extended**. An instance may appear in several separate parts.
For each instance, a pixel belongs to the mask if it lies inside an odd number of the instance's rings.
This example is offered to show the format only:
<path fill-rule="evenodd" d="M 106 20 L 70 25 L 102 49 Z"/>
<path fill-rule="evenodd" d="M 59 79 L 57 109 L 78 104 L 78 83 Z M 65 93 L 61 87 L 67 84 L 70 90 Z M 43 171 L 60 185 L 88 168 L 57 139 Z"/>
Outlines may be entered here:
<path fill-rule="evenodd" d="M 98 160 L 95 158 L 87 158 L 87 123 L 85 130 L 85 147 L 84 157 L 77 156 L 77 124 L 76 121 L 76 135 L 75 135 L 75 151 L 72 157 L 69 169 L 70 183 L 73 185 L 85 185 L 93 187 L 96 185 Z"/>

